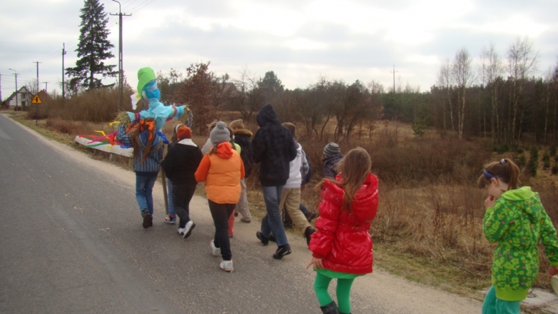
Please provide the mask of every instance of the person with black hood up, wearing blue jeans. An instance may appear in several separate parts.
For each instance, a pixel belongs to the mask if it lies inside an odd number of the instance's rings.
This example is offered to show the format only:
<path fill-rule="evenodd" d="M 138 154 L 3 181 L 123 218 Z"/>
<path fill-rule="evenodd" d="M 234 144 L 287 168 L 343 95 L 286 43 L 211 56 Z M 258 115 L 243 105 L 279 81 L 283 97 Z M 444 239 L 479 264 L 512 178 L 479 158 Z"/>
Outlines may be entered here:
<path fill-rule="evenodd" d="M 291 131 L 279 122 L 271 104 L 264 105 L 256 116 L 259 130 L 252 140 L 252 157 L 259 165 L 259 181 L 264 192 L 267 214 L 262 219 L 262 230 L 256 233 L 262 245 L 269 243 L 271 232 L 277 241 L 273 258 L 280 260 L 291 253 L 285 227 L 279 214 L 279 201 L 287 179 L 289 162 L 296 158 L 296 144 Z"/>

